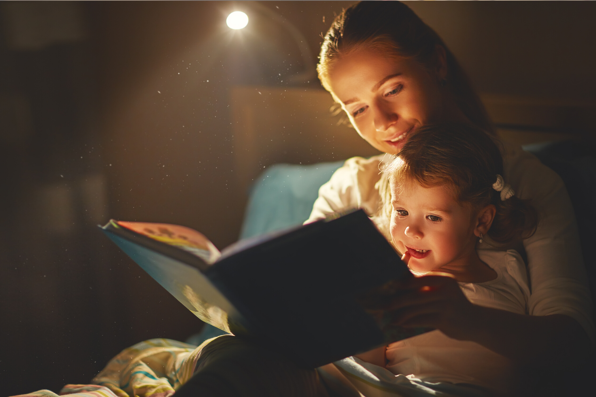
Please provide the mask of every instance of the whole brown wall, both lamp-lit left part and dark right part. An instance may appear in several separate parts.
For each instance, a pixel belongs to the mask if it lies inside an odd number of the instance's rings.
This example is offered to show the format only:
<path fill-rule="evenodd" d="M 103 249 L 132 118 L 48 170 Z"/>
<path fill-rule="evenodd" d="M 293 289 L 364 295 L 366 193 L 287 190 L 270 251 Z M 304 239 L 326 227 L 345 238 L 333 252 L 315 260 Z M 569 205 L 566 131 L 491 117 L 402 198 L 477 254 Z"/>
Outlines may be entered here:
<path fill-rule="evenodd" d="M 347 4 L 263 2 L 299 27 L 313 58 L 333 11 Z M 594 100 L 596 77 L 591 70 L 596 60 L 594 51 L 585 51 L 596 44 L 590 22 L 594 5 L 410 5 L 445 39 L 479 91 Z M 237 38 L 227 36 L 222 23 L 234 5 L 175 2 L 96 7 L 113 215 L 207 227 L 218 246 L 231 243 L 242 214 L 234 198 L 237 193 L 230 187 L 234 170 L 228 89 L 234 83 L 234 76 L 230 77 L 234 70 L 228 52 Z M 300 62 L 296 45 L 287 38 L 284 41 L 280 30 L 262 29 L 266 38 L 262 41 L 272 49 L 291 50 L 287 63 L 296 67 Z M 247 81 L 242 77 L 237 82 Z M 186 210 L 183 215 L 168 207 Z M 219 224 L 226 227 L 215 226 Z"/>

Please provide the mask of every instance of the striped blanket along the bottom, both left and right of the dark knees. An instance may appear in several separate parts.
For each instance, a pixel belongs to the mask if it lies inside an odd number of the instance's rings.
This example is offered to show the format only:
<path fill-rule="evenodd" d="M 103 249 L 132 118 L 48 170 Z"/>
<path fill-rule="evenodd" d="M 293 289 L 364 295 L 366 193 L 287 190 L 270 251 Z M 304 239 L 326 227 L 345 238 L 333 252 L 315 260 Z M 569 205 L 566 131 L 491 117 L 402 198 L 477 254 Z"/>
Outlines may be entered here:
<path fill-rule="evenodd" d="M 206 352 L 201 357 L 201 352 L 204 346 L 214 339 L 216 338 L 207 339 L 198 347 L 171 339 L 145 340 L 124 349 L 111 359 L 104 370 L 91 381 L 93 384 L 67 384 L 60 390 L 59 395 L 63 397 L 169 397 L 193 376 L 197 362 L 209 356 Z M 228 339 L 222 342 L 228 342 L 224 347 L 234 348 L 234 343 L 229 342 L 237 341 Z M 199 362 L 198 365 L 201 363 Z M 395 376 L 385 368 L 353 357 L 325 365 L 319 368 L 318 373 L 331 389 L 336 389 L 338 381 L 343 383 L 341 390 L 336 390 L 336 393 L 345 396 L 486 397 L 490 395 L 481 387 L 473 385 L 428 383 L 403 375 Z M 38 390 L 13 397 L 58 397 L 59 395 L 50 390 Z"/>

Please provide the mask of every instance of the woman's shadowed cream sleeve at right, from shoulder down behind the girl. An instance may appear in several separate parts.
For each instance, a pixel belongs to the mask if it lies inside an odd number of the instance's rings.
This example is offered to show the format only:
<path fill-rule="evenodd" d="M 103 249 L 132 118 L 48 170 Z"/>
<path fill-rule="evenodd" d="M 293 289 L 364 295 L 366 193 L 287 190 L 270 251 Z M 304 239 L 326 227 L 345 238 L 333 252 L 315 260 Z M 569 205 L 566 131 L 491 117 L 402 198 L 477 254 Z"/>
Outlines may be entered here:
<path fill-rule="evenodd" d="M 523 241 L 531 295 L 530 315 L 574 318 L 594 344 L 592 300 L 575 213 L 560 176 L 521 147 L 506 147 L 505 182 L 538 210 L 536 233 Z"/>

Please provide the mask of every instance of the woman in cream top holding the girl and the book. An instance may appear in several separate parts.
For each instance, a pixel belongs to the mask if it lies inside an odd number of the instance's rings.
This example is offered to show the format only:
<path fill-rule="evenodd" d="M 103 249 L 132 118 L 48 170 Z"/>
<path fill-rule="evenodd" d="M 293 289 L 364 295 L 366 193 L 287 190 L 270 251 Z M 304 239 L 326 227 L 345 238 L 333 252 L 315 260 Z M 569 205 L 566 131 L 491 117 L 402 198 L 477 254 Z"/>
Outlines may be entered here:
<path fill-rule="evenodd" d="M 361 2 L 333 22 L 322 44 L 319 78 L 346 111 L 358 134 L 384 153 L 399 153 L 415 128 L 433 122 L 463 122 L 493 133 L 491 123 L 465 73 L 439 36 L 406 5 Z M 594 344 L 591 300 L 586 285 L 575 217 L 563 182 L 521 148 L 505 145 L 505 181 L 539 210 L 536 234 L 501 246 L 526 255 L 532 295 L 529 315 L 458 312 L 458 296 L 437 278 L 432 293 L 412 293 L 402 302 L 400 323 L 436 327 L 454 339 L 469 340 L 518 364 L 564 368 L 581 362 Z M 309 221 L 344 207 L 383 214 L 384 156 L 353 158 L 319 190 Z M 420 286 L 429 283 L 418 279 Z M 440 302 L 440 304 L 439 304 Z M 454 321 L 457 320 L 457 321 Z M 466 325 L 462 325 L 466 324 Z M 471 326 L 470 324 L 474 324 Z M 562 365 L 563 364 L 563 365 Z"/>

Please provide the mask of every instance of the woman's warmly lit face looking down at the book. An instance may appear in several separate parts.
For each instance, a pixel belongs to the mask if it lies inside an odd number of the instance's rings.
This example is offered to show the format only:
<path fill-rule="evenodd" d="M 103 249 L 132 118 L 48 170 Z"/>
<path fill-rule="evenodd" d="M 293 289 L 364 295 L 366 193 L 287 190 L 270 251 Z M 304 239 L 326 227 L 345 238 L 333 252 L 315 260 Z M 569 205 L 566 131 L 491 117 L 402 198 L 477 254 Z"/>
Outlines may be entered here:
<path fill-rule="evenodd" d="M 412 59 L 362 49 L 333 64 L 328 84 L 358 134 L 396 154 L 413 129 L 442 120 L 441 78 Z"/>

